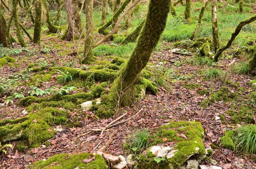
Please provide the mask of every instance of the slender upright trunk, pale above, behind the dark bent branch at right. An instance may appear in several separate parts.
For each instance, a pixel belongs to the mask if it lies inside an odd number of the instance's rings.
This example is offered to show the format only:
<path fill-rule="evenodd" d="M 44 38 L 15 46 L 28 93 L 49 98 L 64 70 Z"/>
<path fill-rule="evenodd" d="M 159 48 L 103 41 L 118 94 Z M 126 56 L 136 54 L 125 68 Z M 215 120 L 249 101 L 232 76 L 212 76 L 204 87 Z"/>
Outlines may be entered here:
<path fill-rule="evenodd" d="M 217 0 L 212 0 L 212 37 L 214 44 L 214 52 L 216 53 L 220 47 L 218 38 Z"/>

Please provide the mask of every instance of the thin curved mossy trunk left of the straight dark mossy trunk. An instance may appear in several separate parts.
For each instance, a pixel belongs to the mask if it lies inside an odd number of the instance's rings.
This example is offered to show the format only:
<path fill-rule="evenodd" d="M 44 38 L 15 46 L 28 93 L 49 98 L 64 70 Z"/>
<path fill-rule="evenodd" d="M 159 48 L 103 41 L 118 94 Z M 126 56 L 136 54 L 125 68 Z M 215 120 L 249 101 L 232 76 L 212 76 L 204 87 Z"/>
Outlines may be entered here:
<path fill-rule="evenodd" d="M 26 42 L 23 38 L 23 34 L 20 30 L 20 25 L 19 25 L 19 19 L 18 19 L 18 13 L 17 13 L 17 6 L 19 4 L 20 0 L 12 0 L 12 14 L 13 14 L 13 21 L 14 25 L 16 27 L 16 36 L 19 40 L 19 43 L 22 47 L 26 47 Z"/>

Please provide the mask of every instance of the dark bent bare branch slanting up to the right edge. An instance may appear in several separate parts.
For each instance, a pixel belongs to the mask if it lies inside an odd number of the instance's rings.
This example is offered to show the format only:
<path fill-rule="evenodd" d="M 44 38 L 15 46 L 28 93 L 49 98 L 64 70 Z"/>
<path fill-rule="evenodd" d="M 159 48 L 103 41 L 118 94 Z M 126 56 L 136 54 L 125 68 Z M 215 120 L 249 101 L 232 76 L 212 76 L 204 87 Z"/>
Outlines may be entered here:
<path fill-rule="evenodd" d="M 245 26 L 245 25 L 247 25 L 247 24 L 249 24 L 249 23 L 251 23 L 251 22 L 253 22 L 253 21 L 255 21 L 255 20 L 256 20 L 256 15 L 254 15 L 253 17 L 250 17 L 250 18 L 247 19 L 247 20 L 243 20 L 243 21 L 241 21 L 241 22 L 238 24 L 238 26 L 236 27 L 235 32 L 231 35 L 231 38 L 230 38 L 230 40 L 227 42 L 226 46 L 224 46 L 224 47 L 218 49 L 218 51 L 216 52 L 216 54 L 215 54 L 215 56 L 214 56 L 214 60 L 215 60 L 216 62 L 218 61 L 218 58 L 221 56 L 222 52 L 223 52 L 224 50 L 226 50 L 227 48 L 229 48 L 229 47 L 232 45 L 233 41 L 235 40 L 236 36 L 240 33 L 240 31 L 241 31 L 241 29 L 243 28 L 243 26 Z"/>

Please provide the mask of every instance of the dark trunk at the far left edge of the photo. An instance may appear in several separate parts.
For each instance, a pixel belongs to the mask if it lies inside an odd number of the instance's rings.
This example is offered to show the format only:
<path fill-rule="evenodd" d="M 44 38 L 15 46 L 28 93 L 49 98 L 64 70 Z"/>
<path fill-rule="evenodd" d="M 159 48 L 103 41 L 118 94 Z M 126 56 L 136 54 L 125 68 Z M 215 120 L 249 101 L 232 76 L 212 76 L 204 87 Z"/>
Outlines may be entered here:
<path fill-rule="evenodd" d="M 2 14 L 1 11 L 1 7 L 0 7 L 0 44 L 2 44 L 3 46 L 7 47 L 8 45 L 8 36 L 6 36 L 7 34 L 7 25 L 6 25 L 6 19 Z"/>

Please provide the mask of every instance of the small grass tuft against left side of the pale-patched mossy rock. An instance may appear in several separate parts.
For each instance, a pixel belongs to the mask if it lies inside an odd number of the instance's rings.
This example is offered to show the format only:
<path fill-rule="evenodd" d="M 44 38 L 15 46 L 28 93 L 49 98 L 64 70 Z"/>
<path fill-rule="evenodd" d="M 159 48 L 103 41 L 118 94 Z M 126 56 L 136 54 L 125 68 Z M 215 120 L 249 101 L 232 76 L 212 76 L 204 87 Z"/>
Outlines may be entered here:
<path fill-rule="evenodd" d="M 136 132 L 134 132 L 134 134 L 130 138 L 130 148 L 134 151 L 134 156 L 136 156 L 137 151 L 142 151 L 143 149 L 148 148 L 149 140 L 150 133 L 148 132 L 148 129 L 137 130 Z"/>

